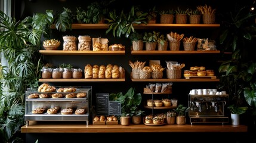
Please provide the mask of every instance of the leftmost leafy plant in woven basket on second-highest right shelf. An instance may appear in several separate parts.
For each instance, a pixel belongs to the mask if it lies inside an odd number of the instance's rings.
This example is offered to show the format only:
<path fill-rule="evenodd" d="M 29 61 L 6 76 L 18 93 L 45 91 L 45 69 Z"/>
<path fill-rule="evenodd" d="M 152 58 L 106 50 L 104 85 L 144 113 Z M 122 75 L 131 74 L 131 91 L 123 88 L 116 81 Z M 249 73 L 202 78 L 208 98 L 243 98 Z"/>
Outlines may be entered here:
<path fill-rule="evenodd" d="M 129 39 L 132 43 L 132 50 L 141 51 L 143 50 L 143 35 L 141 33 L 135 32 L 129 35 Z"/>

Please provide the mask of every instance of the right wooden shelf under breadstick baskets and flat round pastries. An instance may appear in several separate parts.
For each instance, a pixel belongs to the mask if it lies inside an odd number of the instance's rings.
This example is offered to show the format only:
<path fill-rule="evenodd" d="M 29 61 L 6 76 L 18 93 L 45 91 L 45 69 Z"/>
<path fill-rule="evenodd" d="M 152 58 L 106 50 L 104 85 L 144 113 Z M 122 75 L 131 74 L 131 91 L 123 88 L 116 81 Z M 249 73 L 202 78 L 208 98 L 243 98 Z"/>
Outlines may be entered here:
<path fill-rule="evenodd" d="M 131 79 L 132 82 L 220 82 L 220 79 Z"/>

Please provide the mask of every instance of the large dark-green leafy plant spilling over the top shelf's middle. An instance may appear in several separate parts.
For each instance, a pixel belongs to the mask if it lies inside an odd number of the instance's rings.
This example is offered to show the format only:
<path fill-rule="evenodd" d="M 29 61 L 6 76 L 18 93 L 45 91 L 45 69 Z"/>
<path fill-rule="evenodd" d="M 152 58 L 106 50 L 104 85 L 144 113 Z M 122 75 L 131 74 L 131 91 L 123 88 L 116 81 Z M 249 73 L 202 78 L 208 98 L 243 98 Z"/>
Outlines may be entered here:
<path fill-rule="evenodd" d="M 121 38 L 124 35 L 126 38 L 129 37 L 131 33 L 135 33 L 133 24 L 146 24 L 146 15 L 138 7 L 132 6 L 128 14 L 124 13 L 124 10 L 118 15 L 116 10 L 109 12 L 109 18 L 105 20 L 109 23 L 109 29 L 107 29 L 106 34 L 112 31 L 113 36 Z"/>

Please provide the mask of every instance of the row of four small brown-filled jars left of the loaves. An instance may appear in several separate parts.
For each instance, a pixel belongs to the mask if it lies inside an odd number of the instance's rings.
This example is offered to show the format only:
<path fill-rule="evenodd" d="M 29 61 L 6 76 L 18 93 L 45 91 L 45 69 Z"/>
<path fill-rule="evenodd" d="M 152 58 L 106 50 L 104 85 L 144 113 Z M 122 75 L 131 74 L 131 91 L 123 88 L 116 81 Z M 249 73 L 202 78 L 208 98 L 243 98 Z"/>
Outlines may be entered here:
<path fill-rule="evenodd" d="M 69 69 L 69 68 L 44 68 L 42 69 L 43 79 L 81 79 L 82 69 Z"/>

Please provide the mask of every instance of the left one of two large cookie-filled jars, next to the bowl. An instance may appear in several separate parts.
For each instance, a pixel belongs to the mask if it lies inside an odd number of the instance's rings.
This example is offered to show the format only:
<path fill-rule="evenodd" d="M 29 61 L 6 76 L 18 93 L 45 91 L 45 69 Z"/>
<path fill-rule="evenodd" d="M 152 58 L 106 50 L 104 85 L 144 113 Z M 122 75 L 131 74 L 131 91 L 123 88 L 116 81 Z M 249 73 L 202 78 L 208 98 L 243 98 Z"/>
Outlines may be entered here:
<path fill-rule="evenodd" d="M 63 36 L 63 51 L 76 51 L 76 37 Z"/>

